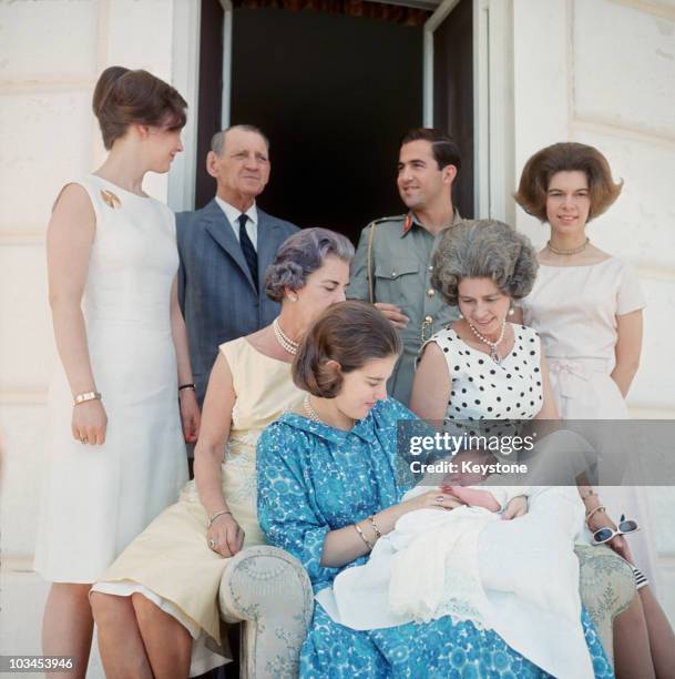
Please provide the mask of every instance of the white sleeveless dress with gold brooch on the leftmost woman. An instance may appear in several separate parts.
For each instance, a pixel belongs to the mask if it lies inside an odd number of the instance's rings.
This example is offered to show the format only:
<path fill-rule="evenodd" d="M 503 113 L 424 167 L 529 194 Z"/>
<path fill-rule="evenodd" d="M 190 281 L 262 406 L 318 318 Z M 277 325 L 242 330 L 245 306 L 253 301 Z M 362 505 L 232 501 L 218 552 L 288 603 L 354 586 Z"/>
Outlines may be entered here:
<path fill-rule="evenodd" d="M 187 480 L 170 322 L 178 254 L 166 205 L 95 175 L 74 183 L 96 219 L 82 310 L 108 430 L 102 446 L 73 439 L 59 364 L 34 568 L 50 581 L 93 582 Z"/>

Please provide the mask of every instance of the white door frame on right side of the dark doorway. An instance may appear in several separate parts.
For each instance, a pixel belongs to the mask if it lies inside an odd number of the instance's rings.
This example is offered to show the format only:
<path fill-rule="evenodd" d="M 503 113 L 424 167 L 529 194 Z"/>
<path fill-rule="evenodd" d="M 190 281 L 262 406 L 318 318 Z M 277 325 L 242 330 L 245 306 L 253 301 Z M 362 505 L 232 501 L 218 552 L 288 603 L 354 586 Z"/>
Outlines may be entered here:
<path fill-rule="evenodd" d="M 433 33 L 459 0 L 443 0 L 425 23 L 423 124 L 433 126 Z M 474 214 L 513 219 L 513 80 L 508 41 L 512 0 L 473 0 L 473 186 Z M 509 169 L 511 168 L 511 176 Z"/>

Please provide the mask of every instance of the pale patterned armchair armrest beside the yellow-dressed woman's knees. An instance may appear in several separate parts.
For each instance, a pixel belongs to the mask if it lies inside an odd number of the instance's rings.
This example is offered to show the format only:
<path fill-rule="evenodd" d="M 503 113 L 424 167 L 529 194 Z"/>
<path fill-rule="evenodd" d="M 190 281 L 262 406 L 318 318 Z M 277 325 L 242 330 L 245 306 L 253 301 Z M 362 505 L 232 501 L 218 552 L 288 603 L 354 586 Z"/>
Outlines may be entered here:
<path fill-rule="evenodd" d="M 226 566 L 221 617 L 242 626 L 242 677 L 297 677 L 300 648 L 314 611 L 301 564 L 283 549 L 249 547 Z"/>

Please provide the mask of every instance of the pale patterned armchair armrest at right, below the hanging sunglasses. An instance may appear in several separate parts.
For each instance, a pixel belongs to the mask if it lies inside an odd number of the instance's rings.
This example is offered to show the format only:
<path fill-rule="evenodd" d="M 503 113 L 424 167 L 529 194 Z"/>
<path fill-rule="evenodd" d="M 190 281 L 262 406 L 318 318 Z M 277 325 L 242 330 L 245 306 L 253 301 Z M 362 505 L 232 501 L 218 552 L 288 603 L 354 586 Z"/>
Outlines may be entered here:
<path fill-rule="evenodd" d="M 581 601 L 613 665 L 612 625 L 635 596 L 635 576 L 630 564 L 608 547 L 576 545 L 574 551 L 579 558 Z"/>

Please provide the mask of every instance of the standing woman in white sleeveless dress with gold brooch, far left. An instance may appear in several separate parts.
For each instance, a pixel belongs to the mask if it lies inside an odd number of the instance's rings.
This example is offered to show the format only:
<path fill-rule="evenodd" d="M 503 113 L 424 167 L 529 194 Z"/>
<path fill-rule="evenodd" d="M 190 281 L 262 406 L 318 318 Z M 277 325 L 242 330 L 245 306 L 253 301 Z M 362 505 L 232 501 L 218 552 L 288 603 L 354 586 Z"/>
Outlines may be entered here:
<path fill-rule="evenodd" d="M 183 150 L 186 103 L 145 71 L 106 69 L 93 109 L 110 154 L 68 183 L 48 229 L 50 303 L 61 366 L 49 438 L 35 570 L 53 582 L 45 655 L 84 677 L 91 584 L 187 479 L 200 413 L 177 304 L 171 210 L 142 191 Z M 178 405 L 180 404 L 180 405 Z M 73 673 L 69 673 L 73 677 Z"/>

